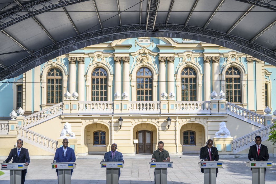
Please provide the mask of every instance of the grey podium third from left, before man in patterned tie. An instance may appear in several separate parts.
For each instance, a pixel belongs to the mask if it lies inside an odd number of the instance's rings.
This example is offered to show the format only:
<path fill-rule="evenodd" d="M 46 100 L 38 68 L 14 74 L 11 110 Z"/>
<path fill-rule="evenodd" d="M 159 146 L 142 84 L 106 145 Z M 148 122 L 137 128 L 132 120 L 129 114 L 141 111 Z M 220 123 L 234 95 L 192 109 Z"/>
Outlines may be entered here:
<path fill-rule="evenodd" d="M 119 169 L 124 168 L 123 162 L 101 162 L 101 168 L 106 169 L 106 183 L 119 183 Z"/>

